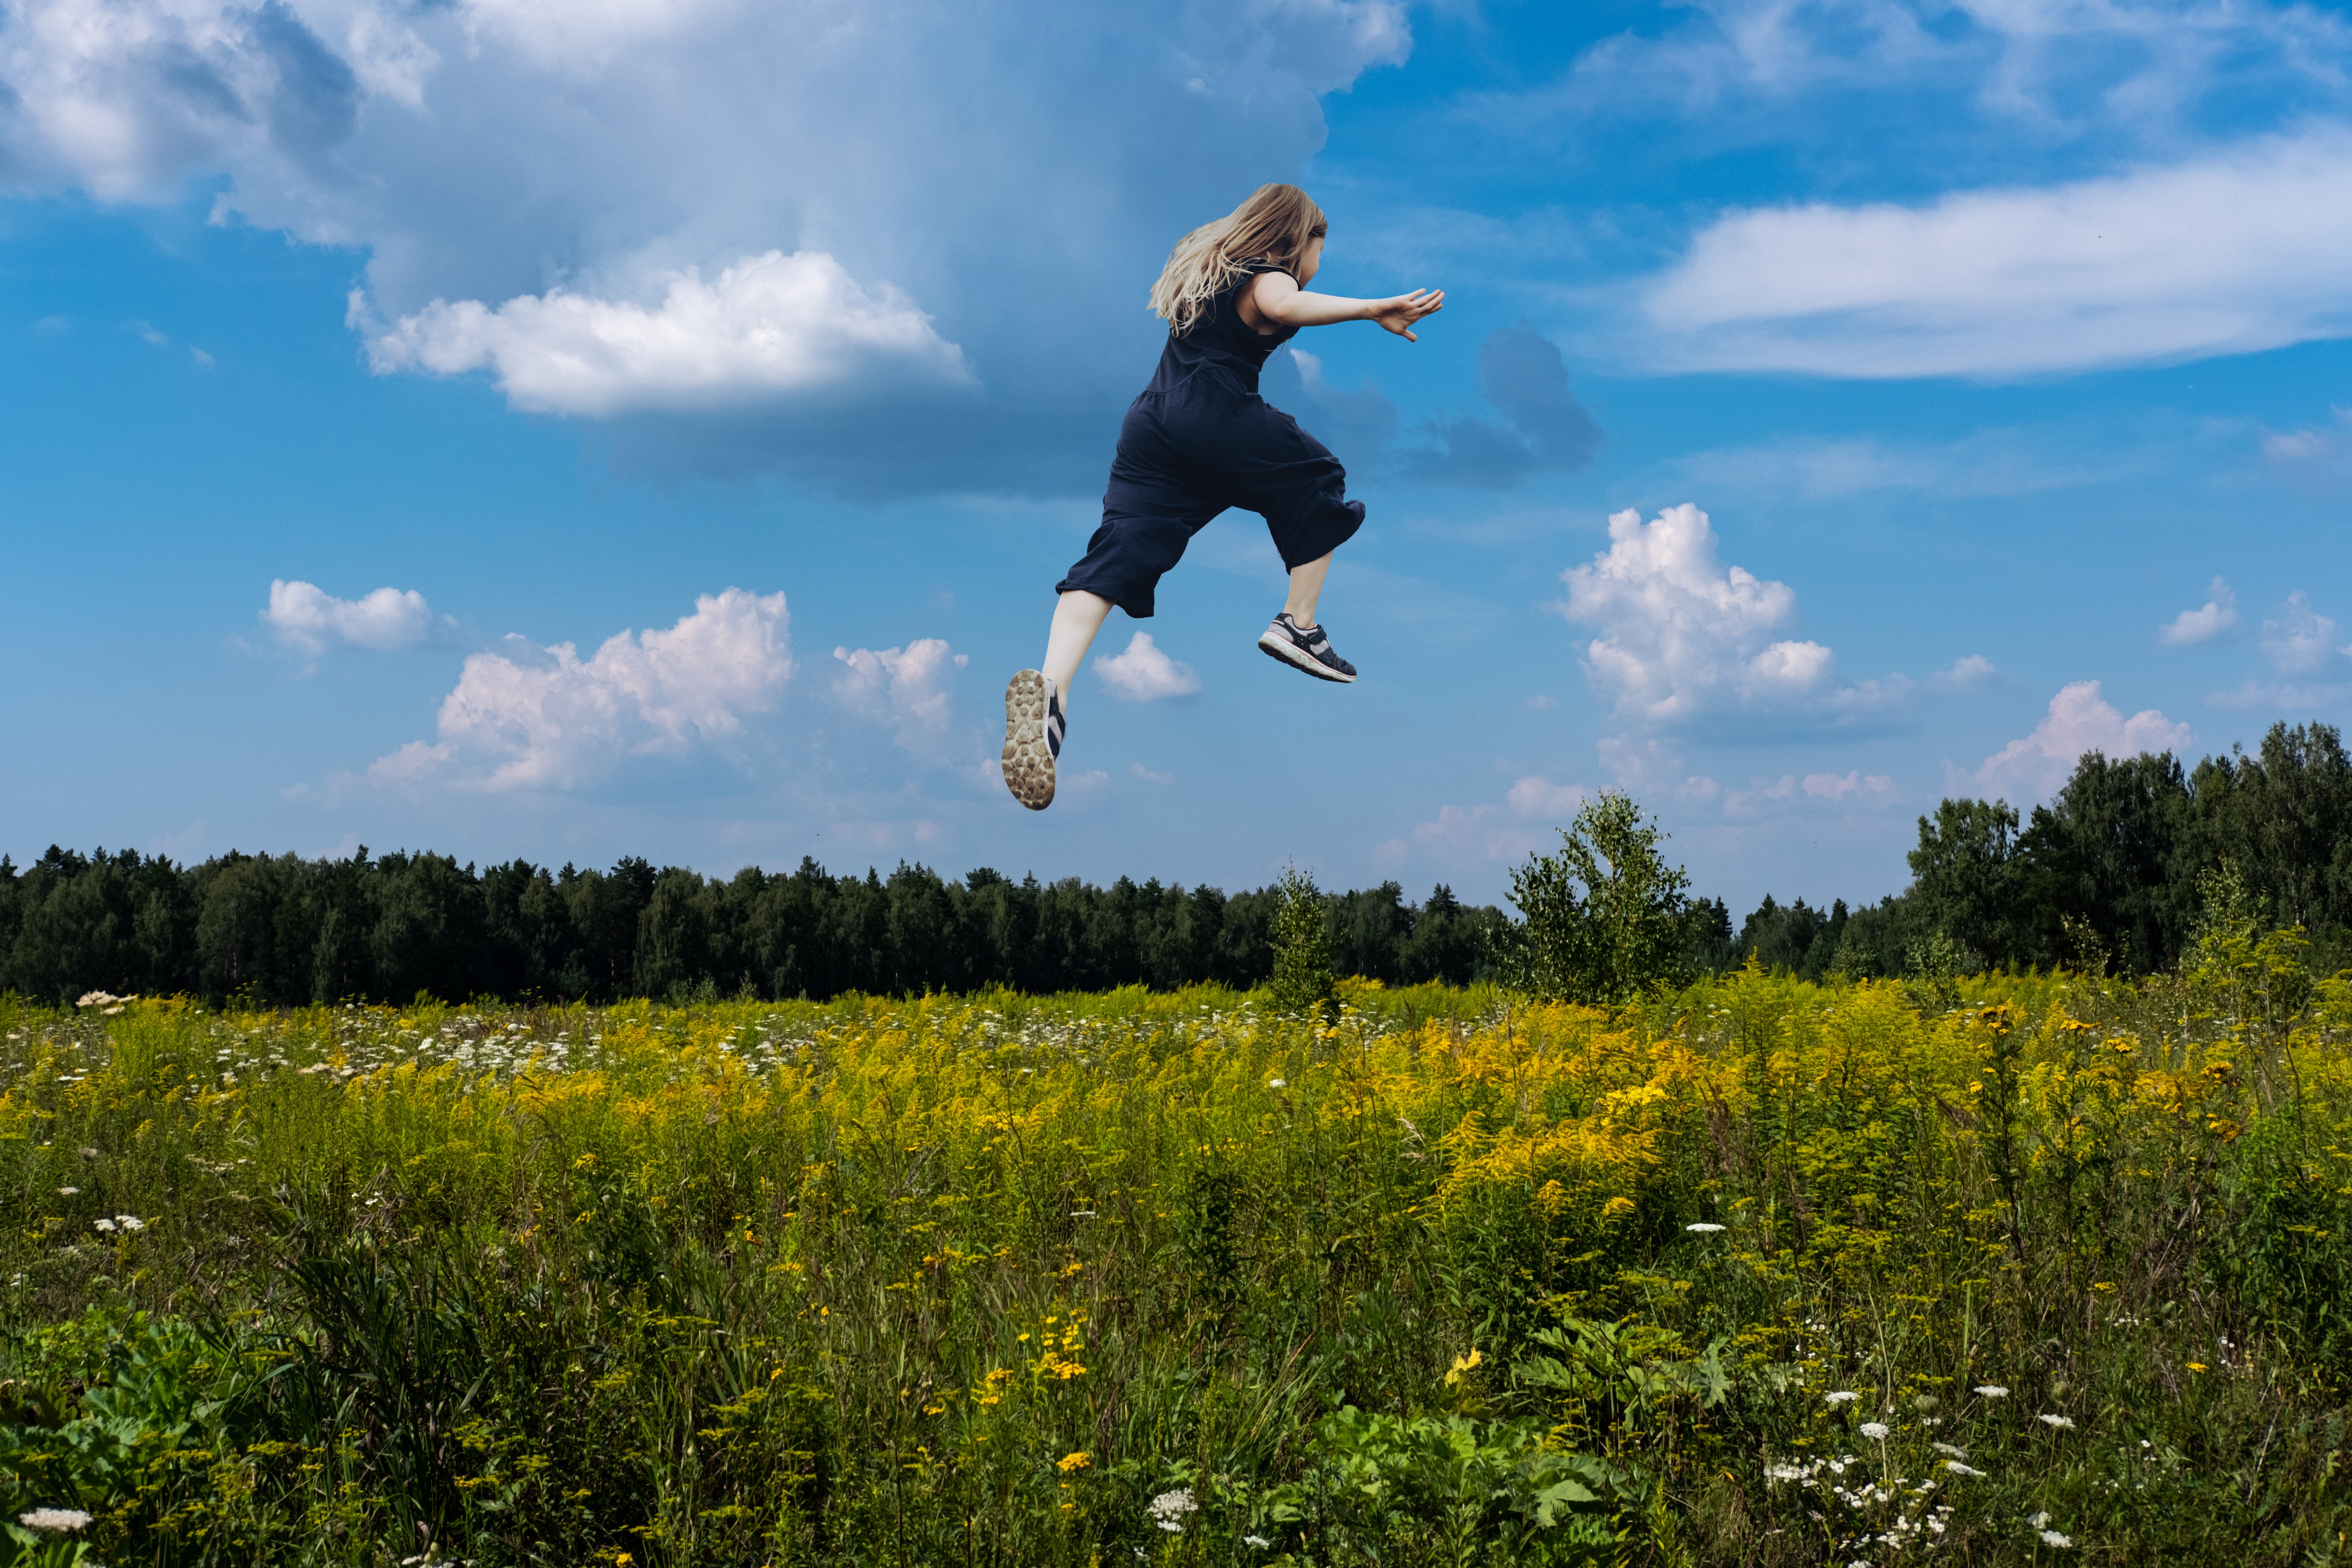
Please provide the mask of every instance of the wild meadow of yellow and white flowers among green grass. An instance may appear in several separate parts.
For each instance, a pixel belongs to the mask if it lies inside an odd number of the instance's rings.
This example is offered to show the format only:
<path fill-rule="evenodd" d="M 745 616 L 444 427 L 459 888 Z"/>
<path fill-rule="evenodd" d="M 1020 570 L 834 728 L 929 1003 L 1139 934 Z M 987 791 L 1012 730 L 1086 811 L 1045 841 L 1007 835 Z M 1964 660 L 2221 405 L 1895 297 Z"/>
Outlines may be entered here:
<path fill-rule="evenodd" d="M 0 1001 L 0 1561 L 2333 1563 L 2347 1025 Z"/>

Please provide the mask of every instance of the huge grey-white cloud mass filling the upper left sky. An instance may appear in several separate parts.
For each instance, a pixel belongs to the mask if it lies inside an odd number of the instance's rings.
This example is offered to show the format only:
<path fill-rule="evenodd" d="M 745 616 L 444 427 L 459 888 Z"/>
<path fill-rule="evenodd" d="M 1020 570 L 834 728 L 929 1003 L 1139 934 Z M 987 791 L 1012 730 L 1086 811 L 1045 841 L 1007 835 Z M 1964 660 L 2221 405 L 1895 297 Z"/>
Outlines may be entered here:
<path fill-rule="evenodd" d="M 1167 247 L 1409 45 L 1402 0 L 0 0 L 0 188 L 221 181 L 223 214 L 367 249 L 381 369 L 635 411 L 701 465 L 1073 482 Z M 985 397 L 922 442 L 854 407 L 908 381 Z"/>

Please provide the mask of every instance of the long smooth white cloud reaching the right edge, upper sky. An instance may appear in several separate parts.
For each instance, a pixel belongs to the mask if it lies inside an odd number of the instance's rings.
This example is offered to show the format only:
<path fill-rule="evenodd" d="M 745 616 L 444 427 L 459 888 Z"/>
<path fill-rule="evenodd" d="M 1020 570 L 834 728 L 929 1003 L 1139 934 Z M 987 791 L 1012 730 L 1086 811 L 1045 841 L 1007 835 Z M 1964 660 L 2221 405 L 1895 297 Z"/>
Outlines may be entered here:
<path fill-rule="evenodd" d="M 1924 207 L 1733 212 L 1653 280 L 1661 369 L 2032 376 L 2352 331 L 2352 132 Z"/>

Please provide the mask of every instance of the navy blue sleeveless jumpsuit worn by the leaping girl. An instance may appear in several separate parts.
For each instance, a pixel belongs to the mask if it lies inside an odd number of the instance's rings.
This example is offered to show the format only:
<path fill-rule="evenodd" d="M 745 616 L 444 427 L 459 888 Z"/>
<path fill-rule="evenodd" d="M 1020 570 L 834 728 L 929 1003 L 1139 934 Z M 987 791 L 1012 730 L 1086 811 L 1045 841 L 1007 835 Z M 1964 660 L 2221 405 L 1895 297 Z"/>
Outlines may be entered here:
<path fill-rule="evenodd" d="M 1282 270 L 1251 261 L 1192 331 L 1169 336 L 1152 383 L 1120 423 L 1103 527 L 1054 592 L 1082 588 L 1150 616 L 1160 576 L 1228 505 L 1265 517 L 1284 567 L 1322 559 L 1364 527 L 1364 503 L 1348 501 L 1348 470 L 1331 449 L 1258 397 L 1258 369 L 1298 329 L 1251 329 L 1242 292 Z"/>

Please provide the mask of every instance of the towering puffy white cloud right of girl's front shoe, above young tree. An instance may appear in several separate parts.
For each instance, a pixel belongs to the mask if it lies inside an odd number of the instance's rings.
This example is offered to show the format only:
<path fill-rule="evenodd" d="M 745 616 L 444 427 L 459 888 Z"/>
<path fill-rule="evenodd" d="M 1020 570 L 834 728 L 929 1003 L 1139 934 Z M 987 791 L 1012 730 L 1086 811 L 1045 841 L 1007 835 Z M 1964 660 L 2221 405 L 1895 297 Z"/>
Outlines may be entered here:
<path fill-rule="evenodd" d="M 1715 529 L 1696 505 L 1609 517 L 1609 550 L 1562 574 L 1557 609 L 1599 630 L 1585 672 L 1618 715 L 1679 724 L 1722 710 L 1788 710 L 1820 696 L 1830 649 L 1773 637 L 1797 618 L 1797 592 L 1715 559 Z"/>

